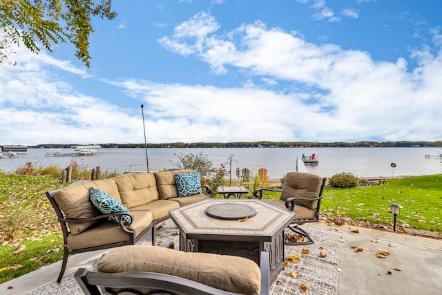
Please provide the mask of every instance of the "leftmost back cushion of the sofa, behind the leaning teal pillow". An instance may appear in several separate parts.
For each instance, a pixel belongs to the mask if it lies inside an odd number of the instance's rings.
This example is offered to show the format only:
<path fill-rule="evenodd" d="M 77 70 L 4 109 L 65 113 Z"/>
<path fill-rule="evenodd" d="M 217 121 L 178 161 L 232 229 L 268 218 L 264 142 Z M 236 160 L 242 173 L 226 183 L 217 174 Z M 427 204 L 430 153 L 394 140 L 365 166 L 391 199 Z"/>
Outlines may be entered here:
<path fill-rule="evenodd" d="M 93 187 L 94 189 L 102 189 L 103 191 L 106 191 L 106 193 L 117 199 L 119 202 L 121 202 L 117 185 L 111 179 L 94 180 L 90 182 L 82 182 L 79 184 L 71 185 L 70 187 L 55 191 L 53 195 L 55 201 L 59 205 L 61 211 L 64 212 L 66 218 L 90 218 L 102 214 L 89 200 L 90 187 Z M 81 233 L 81 231 L 88 229 L 88 227 L 90 227 L 94 223 L 95 222 L 92 221 L 81 223 L 70 222 L 68 225 L 70 232 L 75 235 Z"/>

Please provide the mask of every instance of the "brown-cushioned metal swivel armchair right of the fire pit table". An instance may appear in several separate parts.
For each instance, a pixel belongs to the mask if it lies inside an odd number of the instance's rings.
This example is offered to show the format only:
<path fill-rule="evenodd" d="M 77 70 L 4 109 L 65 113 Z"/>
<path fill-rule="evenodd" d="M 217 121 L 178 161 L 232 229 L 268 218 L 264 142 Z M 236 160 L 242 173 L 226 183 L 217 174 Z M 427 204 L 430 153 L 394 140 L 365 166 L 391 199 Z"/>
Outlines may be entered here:
<path fill-rule="evenodd" d="M 289 229 L 303 236 L 305 240 L 301 242 L 286 242 L 286 245 L 308 245 L 314 243 L 311 236 L 298 225 L 308 222 L 319 222 L 320 202 L 323 199 L 325 182 L 327 182 L 327 178 L 321 178 L 319 175 L 289 172 L 286 175 L 282 189 L 264 188 L 257 189 L 253 193 L 254 198 L 296 213 L 295 220 L 291 222 Z M 280 191 L 280 198 L 263 199 L 264 191 Z"/>

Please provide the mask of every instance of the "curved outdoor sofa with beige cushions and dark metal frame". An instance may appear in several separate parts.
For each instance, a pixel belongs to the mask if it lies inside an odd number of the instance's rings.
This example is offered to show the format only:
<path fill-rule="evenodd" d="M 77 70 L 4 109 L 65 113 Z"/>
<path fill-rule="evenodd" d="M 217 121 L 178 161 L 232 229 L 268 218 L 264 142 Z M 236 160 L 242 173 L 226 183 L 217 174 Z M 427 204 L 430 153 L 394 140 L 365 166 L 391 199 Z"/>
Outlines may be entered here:
<path fill-rule="evenodd" d="M 63 262 L 57 283 L 64 275 L 70 254 L 135 245 L 148 231 L 151 231 L 154 245 L 155 227 L 169 218 L 169 210 L 210 198 L 211 188 L 208 186 L 202 186 L 194 195 L 189 194 L 192 191 L 185 191 L 181 180 L 187 175 L 195 176 L 197 172 L 128 173 L 103 180 L 81 180 L 64 189 L 46 192 L 57 213 L 64 238 Z M 176 174 L 180 174 L 180 191 L 175 182 Z M 184 197 L 180 198 L 183 185 Z M 102 208 L 90 200 L 90 191 L 95 190 L 111 196 L 126 210 L 103 213 Z M 129 225 L 127 219 L 131 222 Z"/>

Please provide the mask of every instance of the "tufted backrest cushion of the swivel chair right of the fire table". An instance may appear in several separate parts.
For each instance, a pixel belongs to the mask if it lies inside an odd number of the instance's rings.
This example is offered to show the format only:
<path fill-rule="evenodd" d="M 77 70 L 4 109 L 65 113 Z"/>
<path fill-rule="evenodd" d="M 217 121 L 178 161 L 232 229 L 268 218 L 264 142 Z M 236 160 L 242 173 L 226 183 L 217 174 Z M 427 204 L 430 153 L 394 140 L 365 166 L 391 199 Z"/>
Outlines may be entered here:
<path fill-rule="evenodd" d="M 319 175 L 303 172 L 289 172 L 282 185 L 281 200 L 288 198 L 318 198 L 323 178 Z M 316 201 L 295 200 L 295 204 L 315 209 Z"/>

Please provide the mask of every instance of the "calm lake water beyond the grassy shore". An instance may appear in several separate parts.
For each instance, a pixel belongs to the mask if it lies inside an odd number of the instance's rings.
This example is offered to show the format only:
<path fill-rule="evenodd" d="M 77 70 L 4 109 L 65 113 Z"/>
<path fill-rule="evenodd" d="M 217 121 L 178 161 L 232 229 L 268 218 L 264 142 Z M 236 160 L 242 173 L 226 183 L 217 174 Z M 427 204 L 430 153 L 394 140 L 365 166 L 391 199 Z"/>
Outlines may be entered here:
<path fill-rule="evenodd" d="M 62 153 L 73 153 L 73 149 L 61 149 Z M 391 177 L 403 175 L 430 175 L 442 173 L 441 160 L 425 159 L 425 155 L 438 155 L 440 148 L 251 148 L 251 149 L 148 149 L 149 171 L 176 167 L 177 155 L 204 153 L 218 167 L 233 156 L 232 179 L 236 179 L 236 167 L 249 168 L 256 173 L 267 169 L 271 179 L 282 178 L 287 172 L 295 171 L 296 157 L 302 153 L 318 157 L 318 165 L 307 165 L 307 171 L 323 177 L 336 173 L 352 173 L 359 177 Z M 90 169 L 100 166 L 102 171 L 146 171 L 146 151 L 140 149 L 97 149 L 96 155 L 45 157 L 44 149 L 28 149 L 26 158 L 0 159 L 0 171 L 11 172 L 26 162 L 46 166 L 57 164 L 61 167 L 75 160 Z M 396 164 L 396 168 L 390 166 Z M 227 169 L 229 165 L 227 164 Z"/>

